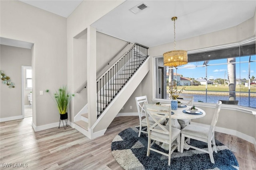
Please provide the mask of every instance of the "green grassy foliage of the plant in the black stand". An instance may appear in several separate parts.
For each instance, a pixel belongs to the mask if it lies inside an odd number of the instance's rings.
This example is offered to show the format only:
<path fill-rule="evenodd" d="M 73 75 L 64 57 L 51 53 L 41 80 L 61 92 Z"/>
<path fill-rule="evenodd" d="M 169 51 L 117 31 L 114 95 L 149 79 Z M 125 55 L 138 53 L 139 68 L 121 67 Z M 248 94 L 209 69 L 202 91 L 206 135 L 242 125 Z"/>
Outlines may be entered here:
<path fill-rule="evenodd" d="M 49 90 L 47 89 L 46 92 L 49 92 Z M 68 104 L 71 100 L 71 96 L 75 96 L 75 95 L 70 94 L 66 86 L 60 87 L 58 91 L 56 90 L 56 92 L 54 93 L 54 99 L 60 114 L 65 114 L 67 112 Z"/>

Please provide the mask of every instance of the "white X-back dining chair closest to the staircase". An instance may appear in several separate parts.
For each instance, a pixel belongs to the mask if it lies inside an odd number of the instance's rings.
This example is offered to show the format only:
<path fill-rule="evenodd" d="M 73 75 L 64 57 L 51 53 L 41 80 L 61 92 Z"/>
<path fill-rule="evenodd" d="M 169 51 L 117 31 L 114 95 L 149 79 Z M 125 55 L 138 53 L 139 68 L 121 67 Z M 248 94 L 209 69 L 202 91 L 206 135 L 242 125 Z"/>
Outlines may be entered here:
<path fill-rule="evenodd" d="M 144 104 L 148 103 L 148 100 L 147 100 L 147 96 L 136 97 L 135 100 L 136 100 L 136 105 L 137 105 L 139 119 L 140 119 L 140 129 L 139 129 L 139 135 L 138 135 L 138 137 L 140 137 L 141 132 L 148 133 L 146 131 L 146 129 L 147 129 L 146 118 L 142 119 L 143 116 L 146 116 L 146 111 L 145 111 L 145 105 Z M 150 120 L 150 123 L 154 123 L 154 121 L 152 120 L 151 117 L 149 118 L 149 120 Z M 162 124 L 164 122 L 165 121 L 161 121 Z M 142 129 L 142 127 L 144 127 L 144 128 Z"/>

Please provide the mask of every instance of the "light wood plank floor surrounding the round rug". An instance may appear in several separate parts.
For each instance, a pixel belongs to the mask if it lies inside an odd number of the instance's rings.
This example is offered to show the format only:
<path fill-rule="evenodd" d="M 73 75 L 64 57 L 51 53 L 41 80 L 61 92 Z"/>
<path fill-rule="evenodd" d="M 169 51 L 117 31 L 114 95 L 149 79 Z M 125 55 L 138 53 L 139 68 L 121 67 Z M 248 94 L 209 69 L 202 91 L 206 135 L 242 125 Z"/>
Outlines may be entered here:
<path fill-rule="evenodd" d="M 4 163 L 28 170 L 122 170 L 111 153 L 111 143 L 122 130 L 139 124 L 138 117 L 116 117 L 102 137 L 90 140 L 72 127 L 34 132 L 32 117 L 0 123 L 0 169 Z M 240 170 L 256 170 L 254 145 L 236 136 L 215 133 L 234 152 Z"/>

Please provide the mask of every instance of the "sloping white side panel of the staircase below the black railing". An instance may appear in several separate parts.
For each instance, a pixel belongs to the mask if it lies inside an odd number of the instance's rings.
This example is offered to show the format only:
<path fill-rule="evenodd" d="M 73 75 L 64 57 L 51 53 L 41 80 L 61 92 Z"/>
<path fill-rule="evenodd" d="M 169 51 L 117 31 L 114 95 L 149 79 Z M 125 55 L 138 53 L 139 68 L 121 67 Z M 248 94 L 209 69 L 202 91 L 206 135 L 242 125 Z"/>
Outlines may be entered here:
<path fill-rule="evenodd" d="M 132 75 L 130 80 L 125 84 L 122 90 L 120 90 L 120 92 L 112 100 L 109 106 L 106 107 L 100 117 L 98 117 L 97 121 L 90 128 L 91 139 L 104 135 L 110 123 L 114 120 L 116 115 L 130 98 L 130 96 L 132 96 L 133 92 L 136 90 L 140 82 L 149 72 L 149 63 L 150 57 L 148 57 L 146 61 L 144 61 L 140 68 L 138 68 L 138 70 L 134 73 L 134 75 Z"/>

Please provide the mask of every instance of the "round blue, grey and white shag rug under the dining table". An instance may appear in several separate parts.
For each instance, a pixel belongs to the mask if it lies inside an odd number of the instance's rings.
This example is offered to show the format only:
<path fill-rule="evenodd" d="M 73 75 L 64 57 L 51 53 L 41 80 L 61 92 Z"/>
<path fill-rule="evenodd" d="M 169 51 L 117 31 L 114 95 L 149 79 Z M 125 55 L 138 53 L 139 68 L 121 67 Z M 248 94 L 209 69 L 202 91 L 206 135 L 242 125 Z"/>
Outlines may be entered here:
<path fill-rule="evenodd" d="M 207 148 L 207 143 L 191 139 L 190 145 Z M 183 153 L 174 150 L 171 155 L 171 165 L 168 157 L 154 151 L 146 156 L 148 137 L 141 133 L 138 137 L 138 127 L 132 127 L 120 132 L 113 139 L 111 150 L 114 158 L 125 170 L 238 170 L 239 165 L 234 154 L 222 143 L 216 140 L 218 153 L 213 152 L 215 164 L 210 161 L 207 153 L 199 150 L 184 149 Z M 158 145 L 154 148 L 165 151 Z"/>

